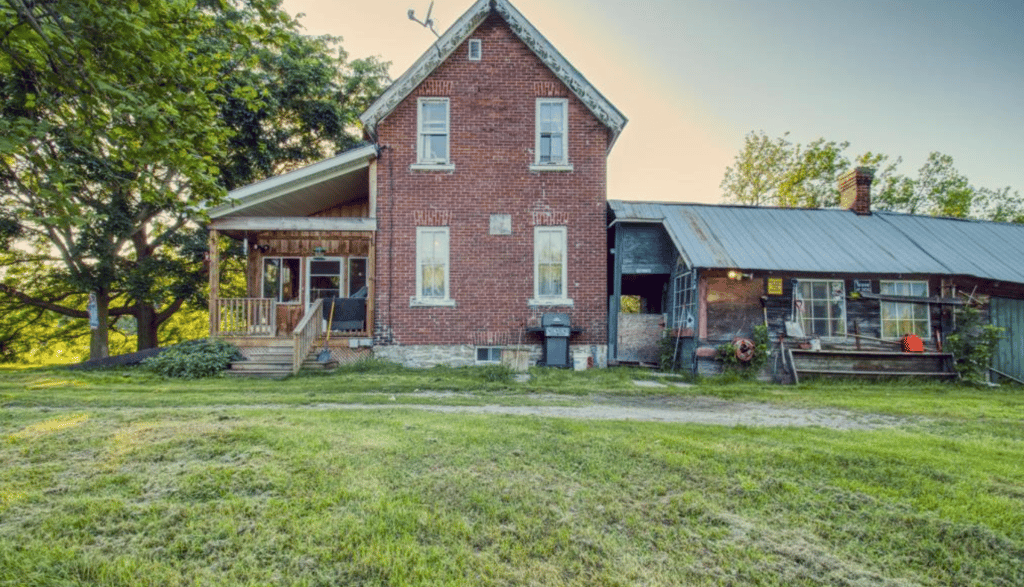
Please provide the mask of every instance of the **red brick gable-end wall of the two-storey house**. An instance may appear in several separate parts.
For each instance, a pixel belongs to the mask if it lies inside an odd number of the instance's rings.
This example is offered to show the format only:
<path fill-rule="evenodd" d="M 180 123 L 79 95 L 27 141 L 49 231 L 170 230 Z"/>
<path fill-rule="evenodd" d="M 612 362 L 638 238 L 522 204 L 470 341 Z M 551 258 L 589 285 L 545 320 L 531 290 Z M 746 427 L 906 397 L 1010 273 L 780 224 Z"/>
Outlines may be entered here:
<path fill-rule="evenodd" d="M 605 158 L 607 128 L 492 15 L 378 124 L 377 339 L 396 344 L 499 345 L 547 311 L 568 311 L 586 329 L 573 344 L 607 342 Z M 417 98 L 451 100 L 455 171 L 414 171 Z M 568 99 L 573 171 L 530 172 L 538 97 Z M 489 235 L 490 215 L 510 214 L 511 236 Z M 416 290 L 418 222 L 450 226 L 450 291 L 456 307 L 410 307 Z M 530 308 L 534 226 L 567 226 L 572 308 Z M 393 239 L 392 239 L 393 237 Z M 538 342 L 527 335 L 524 342 Z"/>

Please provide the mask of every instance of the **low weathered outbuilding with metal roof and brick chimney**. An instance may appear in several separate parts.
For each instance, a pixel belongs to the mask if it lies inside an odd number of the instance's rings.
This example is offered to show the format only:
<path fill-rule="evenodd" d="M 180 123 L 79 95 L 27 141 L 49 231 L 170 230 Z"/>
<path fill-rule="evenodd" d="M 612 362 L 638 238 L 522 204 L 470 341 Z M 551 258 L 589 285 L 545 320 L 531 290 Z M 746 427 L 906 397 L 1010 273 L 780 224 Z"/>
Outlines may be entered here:
<path fill-rule="evenodd" d="M 1024 225 L 872 212 L 870 181 L 865 168 L 844 176 L 842 209 L 609 201 L 609 360 L 656 363 L 668 336 L 715 373 L 719 345 L 765 324 L 776 379 L 941 376 L 955 308 L 971 303 L 1006 329 L 993 368 L 1024 379 Z M 906 335 L 925 342 L 913 361 Z"/>

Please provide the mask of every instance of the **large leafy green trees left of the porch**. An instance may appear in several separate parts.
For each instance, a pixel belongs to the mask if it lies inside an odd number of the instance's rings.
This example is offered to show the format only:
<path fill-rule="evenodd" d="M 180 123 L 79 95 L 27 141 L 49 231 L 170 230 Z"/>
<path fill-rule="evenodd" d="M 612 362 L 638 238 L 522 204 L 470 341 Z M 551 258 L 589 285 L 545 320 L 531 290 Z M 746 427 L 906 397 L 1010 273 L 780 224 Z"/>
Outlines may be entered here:
<path fill-rule="evenodd" d="M 0 0 L 0 309 L 81 325 L 93 293 L 92 358 L 202 304 L 200 210 L 349 146 L 386 82 L 278 0 Z"/>

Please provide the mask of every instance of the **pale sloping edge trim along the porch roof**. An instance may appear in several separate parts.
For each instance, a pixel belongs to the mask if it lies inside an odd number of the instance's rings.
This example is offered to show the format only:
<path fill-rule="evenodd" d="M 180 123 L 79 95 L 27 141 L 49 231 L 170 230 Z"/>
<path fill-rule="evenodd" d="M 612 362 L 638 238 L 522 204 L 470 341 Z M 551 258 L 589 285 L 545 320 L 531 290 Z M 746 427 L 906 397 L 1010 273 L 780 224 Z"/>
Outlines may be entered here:
<path fill-rule="evenodd" d="M 373 144 L 357 146 L 331 159 L 325 159 L 294 171 L 232 190 L 227 194 L 227 202 L 210 209 L 210 218 L 227 216 L 251 206 L 269 202 L 296 190 L 358 171 L 369 167 L 370 161 L 376 157 L 377 148 Z"/>

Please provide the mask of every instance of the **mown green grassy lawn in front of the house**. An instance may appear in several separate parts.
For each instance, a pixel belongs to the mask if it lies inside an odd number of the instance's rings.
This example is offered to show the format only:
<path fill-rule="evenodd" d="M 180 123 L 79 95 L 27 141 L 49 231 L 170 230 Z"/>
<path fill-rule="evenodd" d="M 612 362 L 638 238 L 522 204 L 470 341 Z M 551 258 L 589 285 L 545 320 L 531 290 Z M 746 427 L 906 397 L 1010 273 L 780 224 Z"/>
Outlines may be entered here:
<path fill-rule="evenodd" d="M 0 585 L 1024 585 L 1020 388 L 651 390 L 636 377 L 0 372 Z M 905 423 L 331 408 L 540 393 L 714 395 Z"/>

